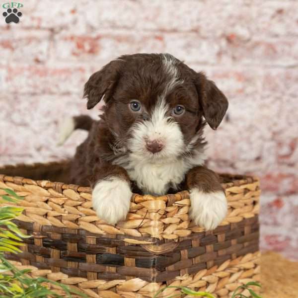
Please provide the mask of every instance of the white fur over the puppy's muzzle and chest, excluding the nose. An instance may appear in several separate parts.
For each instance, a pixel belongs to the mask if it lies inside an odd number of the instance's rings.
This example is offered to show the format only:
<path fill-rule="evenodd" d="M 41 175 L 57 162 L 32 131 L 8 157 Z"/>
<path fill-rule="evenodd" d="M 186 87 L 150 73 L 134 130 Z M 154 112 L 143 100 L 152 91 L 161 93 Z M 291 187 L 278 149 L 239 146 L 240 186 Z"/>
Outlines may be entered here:
<path fill-rule="evenodd" d="M 177 189 L 189 169 L 202 165 L 205 154 L 195 151 L 187 155 L 183 134 L 178 123 L 165 116 L 167 107 L 160 100 L 151 120 L 139 122 L 132 128 L 128 142 L 129 153 L 116 158 L 113 163 L 124 167 L 144 193 L 164 195 L 169 188 Z M 164 148 L 158 153 L 146 149 L 146 140 L 159 140 Z"/>

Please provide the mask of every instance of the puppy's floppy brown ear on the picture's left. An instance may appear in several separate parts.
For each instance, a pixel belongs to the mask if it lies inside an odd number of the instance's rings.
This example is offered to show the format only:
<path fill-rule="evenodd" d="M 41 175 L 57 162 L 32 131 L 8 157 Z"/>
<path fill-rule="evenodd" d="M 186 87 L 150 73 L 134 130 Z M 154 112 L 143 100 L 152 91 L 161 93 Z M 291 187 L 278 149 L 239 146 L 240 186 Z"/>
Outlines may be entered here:
<path fill-rule="evenodd" d="M 87 109 L 92 109 L 103 97 L 105 101 L 112 95 L 120 76 L 123 60 L 116 59 L 92 74 L 84 86 L 83 98 L 87 98 Z"/>

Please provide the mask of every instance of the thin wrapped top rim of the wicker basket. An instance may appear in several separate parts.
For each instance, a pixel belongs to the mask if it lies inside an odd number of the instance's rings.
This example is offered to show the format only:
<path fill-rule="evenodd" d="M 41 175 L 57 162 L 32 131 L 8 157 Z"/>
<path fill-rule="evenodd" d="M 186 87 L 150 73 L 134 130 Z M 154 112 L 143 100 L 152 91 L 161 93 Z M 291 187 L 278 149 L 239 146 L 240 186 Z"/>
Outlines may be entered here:
<path fill-rule="evenodd" d="M 30 184 L 30 185 L 38 185 L 41 187 L 46 187 L 46 188 L 53 188 L 53 189 L 57 189 L 60 188 L 61 190 L 66 190 L 66 189 L 73 189 L 76 192 L 85 192 L 85 193 L 92 193 L 92 189 L 91 187 L 88 186 L 80 186 L 80 185 L 76 185 L 76 184 L 67 184 L 67 183 L 63 183 L 63 182 L 59 182 L 59 181 L 51 181 L 51 180 L 34 180 L 34 179 L 30 179 L 27 177 L 22 177 L 22 176 L 12 176 L 12 175 L 5 175 L 5 174 L 1 174 L 1 171 L 3 170 L 7 170 L 7 169 L 15 169 L 18 167 L 26 167 L 26 168 L 36 168 L 39 166 L 59 166 L 59 165 L 65 165 L 67 164 L 67 162 L 69 162 L 69 160 L 61 160 L 61 161 L 52 161 L 52 162 L 47 162 L 47 163 L 42 163 L 42 162 L 36 162 L 36 163 L 18 163 L 15 165 L 3 165 L 0 167 L 0 178 L 2 178 L 4 181 L 9 181 L 9 182 L 16 182 L 15 178 L 18 178 L 19 183 L 26 183 L 26 184 Z M 249 183 L 253 183 L 256 181 L 259 181 L 259 178 L 255 175 L 239 175 L 239 174 L 231 174 L 231 173 L 218 173 L 220 176 L 226 176 L 226 177 L 230 177 L 231 178 L 231 182 L 228 183 L 221 183 L 222 187 L 225 189 L 230 189 L 233 186 L 241 186 L 241 185 L 245 185 L 245 184 L 249 184 Z M 170 201 L 170 197 L 172 195 L 179 195 L 180 200 L 182 200 L 185 197 L 189 196 L 189 192 L 187 190 L 182 190 L 176 193 L 170 193 L 170 194 L 166 194 L 166 195 L 162 195 L 162 196 L 153 196 L 153 195 L 149 195 L 149 194 L 137 194 L 134 193 L 132 196 L 131 201 L 135 202 L 135 200 L 137 200 L 138 202 L 143 202 L 143 201 L 148 201 L 148 200 L 162 200 L 164 202 L 168 202 Z M 180 201 L 178 200 L 178 201 Z M 177 199 L 176 199 L 177 201 Z"/>

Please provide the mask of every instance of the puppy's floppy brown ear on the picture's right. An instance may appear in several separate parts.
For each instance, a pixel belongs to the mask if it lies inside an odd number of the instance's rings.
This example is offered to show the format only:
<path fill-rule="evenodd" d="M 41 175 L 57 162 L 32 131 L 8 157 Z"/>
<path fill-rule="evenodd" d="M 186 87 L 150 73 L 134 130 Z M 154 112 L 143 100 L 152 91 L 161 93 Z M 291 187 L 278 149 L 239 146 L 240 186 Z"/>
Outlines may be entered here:
<path fill-rule="evenodd" d="M 203 109 L 203 115 L 210 127 L 216 130 L 224 118 L 228 101 L 216 84 L 207 79 L 203 73 L 197 74 L 195 85 Z"/>

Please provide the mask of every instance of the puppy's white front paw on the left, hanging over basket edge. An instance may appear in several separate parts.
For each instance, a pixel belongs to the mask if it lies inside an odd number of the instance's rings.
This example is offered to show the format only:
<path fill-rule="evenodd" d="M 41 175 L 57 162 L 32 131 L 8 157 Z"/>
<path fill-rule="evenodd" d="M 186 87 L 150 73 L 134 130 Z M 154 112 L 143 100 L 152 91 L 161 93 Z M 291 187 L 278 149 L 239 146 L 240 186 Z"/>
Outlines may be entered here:
<path fill-rule="evenodd" d="M 127 181 L 111 177 L 98 182 L 92 191 L 92 206 L 108 224 L 124 220 L 129 212 L 132 192 Z"/>

